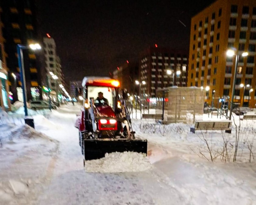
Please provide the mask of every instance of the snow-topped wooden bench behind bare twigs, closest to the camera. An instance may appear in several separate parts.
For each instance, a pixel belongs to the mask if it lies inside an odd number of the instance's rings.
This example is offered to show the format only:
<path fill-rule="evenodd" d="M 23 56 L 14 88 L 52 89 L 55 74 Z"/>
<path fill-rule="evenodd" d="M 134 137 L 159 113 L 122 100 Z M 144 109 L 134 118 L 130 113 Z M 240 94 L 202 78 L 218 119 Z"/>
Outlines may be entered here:
<path fill-rule="evenodd" d="M 196 130 L 225 130 L 231 133 L 231 120 L 226 121 L 197 121 L 195 127 L 190 127 L 190 132 L 195 133 Z"/>

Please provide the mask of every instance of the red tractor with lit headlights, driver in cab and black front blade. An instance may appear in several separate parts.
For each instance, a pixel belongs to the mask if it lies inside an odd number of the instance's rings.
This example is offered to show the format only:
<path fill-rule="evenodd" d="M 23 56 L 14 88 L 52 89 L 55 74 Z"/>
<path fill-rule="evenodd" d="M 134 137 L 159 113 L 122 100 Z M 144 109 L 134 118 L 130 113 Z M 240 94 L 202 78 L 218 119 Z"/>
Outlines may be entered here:
<path fill-rule="evenodd" d="M 77 128 L 84 160 L 102 158 L 111 152 L 147 154 L 147 140 L 134 137 L 126 107 L 127 95 L 124 90 L 119 90 L 119 81 L 107 77 L 85 77 L 82 85 L 84 109 Z"/>

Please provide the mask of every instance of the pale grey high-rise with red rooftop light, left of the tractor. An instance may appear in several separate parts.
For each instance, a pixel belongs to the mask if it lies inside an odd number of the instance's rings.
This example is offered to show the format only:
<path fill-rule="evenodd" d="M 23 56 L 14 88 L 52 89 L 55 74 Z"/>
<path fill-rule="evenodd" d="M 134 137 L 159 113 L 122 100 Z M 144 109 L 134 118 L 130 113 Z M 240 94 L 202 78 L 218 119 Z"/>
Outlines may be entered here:
<path fill-rule="evenodd" d="M 44 65 L 45 65 L 45 79 L 43 80 L 43 86 L 50 88 L 50 96 L 53 101 L 61 100 L 60 95 L 63 93 L 60 85 L 64 86 L 64 75 L 61 70 L 61 61 L 56 54 L 56 44 L 53 38 L 50 36 L 43 38 L 44 48 Z M 46 89 L 47 90 L 47 89 Z M 43 89 L 44 99 L 48 98 L 47 91 Z"/>

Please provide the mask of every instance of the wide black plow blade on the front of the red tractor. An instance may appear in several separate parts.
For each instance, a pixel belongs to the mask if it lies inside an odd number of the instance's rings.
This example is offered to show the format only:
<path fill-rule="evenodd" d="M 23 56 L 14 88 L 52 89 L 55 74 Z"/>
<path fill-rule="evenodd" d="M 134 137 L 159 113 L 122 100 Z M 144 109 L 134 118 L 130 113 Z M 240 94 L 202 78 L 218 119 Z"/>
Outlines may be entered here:
<path fill-rule="evenodd" d="M 100 159 L 106 153 L 132 151 L 147 155 L 147 140 L 94 139 L 84 140 L 85 160 Z"/>

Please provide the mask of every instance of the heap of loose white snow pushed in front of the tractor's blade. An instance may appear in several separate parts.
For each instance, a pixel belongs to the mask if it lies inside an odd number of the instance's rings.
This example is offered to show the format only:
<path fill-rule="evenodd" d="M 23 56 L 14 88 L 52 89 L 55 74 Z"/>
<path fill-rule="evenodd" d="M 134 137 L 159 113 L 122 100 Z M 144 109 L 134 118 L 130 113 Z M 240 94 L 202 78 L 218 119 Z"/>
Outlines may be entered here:
<path fill-rule="evenodd" d="M 104 158 L 85 162 L 87 172 L 141 172 L 151 167 L 146 155 L 137 152 L 106 153 Z"/>

